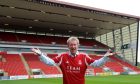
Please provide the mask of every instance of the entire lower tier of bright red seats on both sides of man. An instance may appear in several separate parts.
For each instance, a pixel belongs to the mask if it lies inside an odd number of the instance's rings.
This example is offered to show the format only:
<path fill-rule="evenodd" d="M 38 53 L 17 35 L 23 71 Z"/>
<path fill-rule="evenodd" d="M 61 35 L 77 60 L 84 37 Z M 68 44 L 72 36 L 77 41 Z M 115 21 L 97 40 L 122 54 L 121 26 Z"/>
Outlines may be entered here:
<path fill-rule="evenodd" d="M 44 74 L 60 74 L 61 72 L 56 67 L 50 67 L 43 62 L 41 62 L 37 55 L 33 53 L 22 53 L 22 56 L 25 58 L 30 69 L 40 69 Z M 57 56 L 57 54 L 48 54 L 50 58 Z M 24 64 L 20 58 L 19 54 L 5 54 L 2 55 L 6 59 L 6 62 L 0 62 L 0 69 L 8 72 L 8 75 L 27 75 L 27 71 L 24 67 Z M 101 56 L 90 55 L 90 57 L 100 59 Z M 124 72 L 123 67 L 128 67 L 132 71 L 140 71 L 137 67 L 130 65 L 129 63 L 124 62 L 121 59 L 116 58 L 115 56 L 110 57 L 113 61 L 108 61 L 103 67 L 88 69 L 93 70 L 94 73 L 104 72 L 103 68 L 108 67 L 111 71 L 114 72 Z"/>

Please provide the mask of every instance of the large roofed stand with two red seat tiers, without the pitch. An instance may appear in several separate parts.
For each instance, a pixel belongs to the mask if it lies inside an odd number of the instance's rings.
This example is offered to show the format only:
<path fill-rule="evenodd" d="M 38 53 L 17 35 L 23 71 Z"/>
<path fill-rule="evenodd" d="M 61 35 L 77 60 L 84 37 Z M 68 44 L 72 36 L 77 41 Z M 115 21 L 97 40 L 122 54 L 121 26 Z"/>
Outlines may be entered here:
<path fill-rule="evenodd" d="M 48 77 L 48 75 L 62 74 L 57 67 L 48 66 L 41 62 L 38 56 L 30 51 L 30 48 L 40 48 L 43 53 L 47 51 L 47 55 L 53 58 L 59 52 L 67 50 L 66 41 L 70 36 L 79 37 L 79 51 L 88 52 L 89 56 L 95 60 L 100 59 L 108 48 L 120 48 L 122 45 L 117 45 L 117 43 L 123 43 L 123 38 L 115 34 L 116 30 L 128 25 L 129 29 L 134 29 L 131 24 L 138 21 L 137 18 L 95 11 L 84 7 L 45 2 L 44 0 L 9 0 L 7 2 L 4 0 L 0 4 L 1 9 L 7 10 L 0 13 L 0 21 L 2 22 L 0 23 L 0 50 L 2 50 L 0 52 L 0 72 L 2 72 L 0 76 L 47 75 L 46 77 Z M 15 4 L 12 5 L 14 2 Z M 11 10 L 13 10 L 12 13 L 10 13 Z M 22 12 L 26 12 L 26 14 Z M 137 26 L 134 25 L 136 29 Z M 109 32 L 113 33 L 110 36 L 105 34 Z M 129 30 L 130 32 L 132 31 Z M 119 30 L 118 34 L 122 33 L 123 30 Z M 96 36 L 100 37 L 97 38 L 98 41 Z M 135 37 L 137 36 L 135 35 Z M 110 38 L 113 40 L 110 40 Z M 117 42 L 115 42 L 116 39 Z M 133 40 L 133 38 L 130 40 Z M 125 39 L 124 41 L 128 40 Z M 109 44 L 111 44 L 111 47 L 109 47 Z M 110 61 L 101 67 L 93 68 L 89 66 L 86 74 L 98 75 L 98 73 L 108 72 L 119 74 L 124 72 L 140 73 L 140 69 L 115 55 L 111 56 Z"/>

